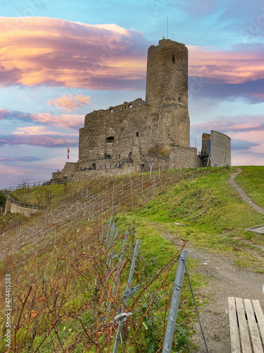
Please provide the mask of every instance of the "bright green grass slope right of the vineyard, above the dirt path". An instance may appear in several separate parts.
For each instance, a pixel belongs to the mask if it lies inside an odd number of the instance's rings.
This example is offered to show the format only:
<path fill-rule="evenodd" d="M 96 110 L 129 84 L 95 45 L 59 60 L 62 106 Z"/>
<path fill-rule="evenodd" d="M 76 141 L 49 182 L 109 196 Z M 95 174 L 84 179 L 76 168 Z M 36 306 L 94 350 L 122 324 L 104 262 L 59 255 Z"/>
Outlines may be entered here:
<path fill-rule="evenodd" d="M 257 180 L 263 167 L 246 168 L 246 180 Z M 149 228 L 170 232 L 187 239 L 195 247 L 203 247 L 225 256 L 234 263 L 264 271 L 263 237 L 246 232 L 246 227 L 263 224 L 263 215 L 244 203 L 228 183 L 231 171 L 215 170 L 195 180 L 182 181 L 154 200 L 130 213 L 138 221 L 147 222 Z M 232 169 L 234 172 L 234 169 Z M 257 183 L 255 182 L 256 186 Z M 264 188 L 258 189 L 258 199 L 264 199 Z M 246 217 L 245 217 L 246 215 Z M 177 231 L 175 222 L 180 222 Z"/>

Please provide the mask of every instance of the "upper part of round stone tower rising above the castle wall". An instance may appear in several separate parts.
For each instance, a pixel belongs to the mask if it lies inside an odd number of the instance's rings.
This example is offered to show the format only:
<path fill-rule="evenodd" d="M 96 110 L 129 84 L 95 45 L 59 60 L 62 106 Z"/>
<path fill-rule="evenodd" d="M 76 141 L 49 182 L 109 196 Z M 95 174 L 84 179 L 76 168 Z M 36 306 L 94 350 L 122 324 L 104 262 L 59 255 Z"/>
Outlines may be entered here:
<path fill-rule="evenodd" d="M 188 49 L 173 40 L 160 40 L 148 50 L 146 103 L 188 105 Z"/>

